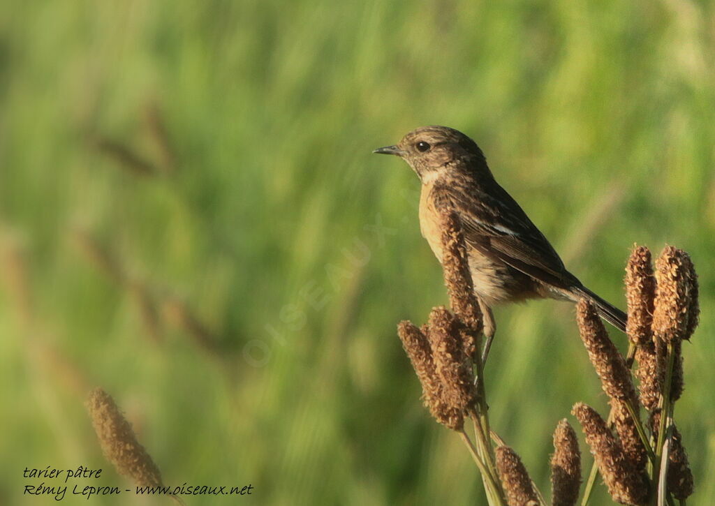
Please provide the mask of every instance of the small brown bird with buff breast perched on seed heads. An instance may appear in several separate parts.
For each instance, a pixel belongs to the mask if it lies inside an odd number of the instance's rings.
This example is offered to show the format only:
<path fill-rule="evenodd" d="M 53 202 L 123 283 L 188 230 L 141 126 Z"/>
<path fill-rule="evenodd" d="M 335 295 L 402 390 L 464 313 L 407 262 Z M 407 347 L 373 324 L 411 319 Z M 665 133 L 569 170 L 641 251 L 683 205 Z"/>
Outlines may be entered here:
<path fill-rule="evenodd" d="M 546 237 L 495 181 L 482 150 L 465 134 L 448 127 L 421 127 L 399 144 L 373 153 L 398 155 L 420 177 L 420 229 L 440 262 L 439 210 L 458 214 L 474 292 L 484 314 L 485 354 L 496 329 L 490 308 L 503 302 L 586 298 L 603 319 L 626 331 L 626 314 L 566 270 Z"/>

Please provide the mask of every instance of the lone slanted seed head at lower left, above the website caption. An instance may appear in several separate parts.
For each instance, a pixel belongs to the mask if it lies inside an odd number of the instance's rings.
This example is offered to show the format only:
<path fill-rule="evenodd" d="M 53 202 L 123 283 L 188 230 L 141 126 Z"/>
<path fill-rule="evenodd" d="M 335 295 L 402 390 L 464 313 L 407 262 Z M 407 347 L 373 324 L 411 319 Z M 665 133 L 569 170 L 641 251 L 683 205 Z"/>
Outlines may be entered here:
<path fill-rule="evenodd" d="M 112 396 L 101 388 L 92 390 L 87 400 L 87 410 L 92 417 L 94 432 L 104 457 L 114 465 L 119 474 L 134 480 L 137 485 L 162 485 L 159 467 L 147 450 L 139 445 L 132 426 L 114 403 Z"/>

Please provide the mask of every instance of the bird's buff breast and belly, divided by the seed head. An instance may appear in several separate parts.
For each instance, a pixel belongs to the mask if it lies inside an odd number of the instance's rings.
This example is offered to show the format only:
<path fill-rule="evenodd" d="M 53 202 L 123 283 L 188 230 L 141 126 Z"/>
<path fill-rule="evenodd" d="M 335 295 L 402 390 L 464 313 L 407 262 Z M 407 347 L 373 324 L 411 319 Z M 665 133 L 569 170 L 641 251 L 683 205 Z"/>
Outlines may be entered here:
<path fill-rule="evenodd" d="M 420 231 L 427 239 L 435 257 L 442 263 L 442 232 L 440 214 L 430 198 L 432 184 L 423 184 L 420 194 Z M 512 267 L 492 259 L 467 247 L 469 269 L 472 274 L 474 292 L 488 306 L 502 302 L 519 302 L 523 299 L 543 297 L 538 293 L 531 278 Z"/>

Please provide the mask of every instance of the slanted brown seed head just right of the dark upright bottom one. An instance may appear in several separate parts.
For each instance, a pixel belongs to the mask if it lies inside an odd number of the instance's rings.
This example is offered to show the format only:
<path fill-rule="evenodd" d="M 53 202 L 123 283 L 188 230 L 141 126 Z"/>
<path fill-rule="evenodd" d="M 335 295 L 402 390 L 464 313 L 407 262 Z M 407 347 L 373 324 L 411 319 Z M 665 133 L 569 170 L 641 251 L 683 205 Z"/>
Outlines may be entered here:
<path fill-rule="evenodd" d="M 647 479 L 633 469 L 601 415 L 581 402 L 573 406 L 571 413 L 581 423 L 586 442 L 613 500 L 628 505 L 644 504 L 648 497 Z"/>

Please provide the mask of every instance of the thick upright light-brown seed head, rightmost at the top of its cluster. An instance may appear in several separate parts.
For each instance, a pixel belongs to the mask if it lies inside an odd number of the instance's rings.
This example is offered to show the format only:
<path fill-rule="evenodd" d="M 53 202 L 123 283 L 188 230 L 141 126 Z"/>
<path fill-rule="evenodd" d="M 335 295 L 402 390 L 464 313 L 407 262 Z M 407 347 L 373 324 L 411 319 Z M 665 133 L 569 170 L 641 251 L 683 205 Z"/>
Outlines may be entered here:
<path fill-rule="evenodd" d="M 656 260 L 653 332 L 657 339 L 672 343 L 689 337 L 691 274 L 692 262 L 682 249 L 667 246 Z"/>

